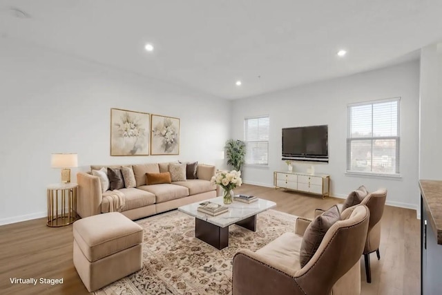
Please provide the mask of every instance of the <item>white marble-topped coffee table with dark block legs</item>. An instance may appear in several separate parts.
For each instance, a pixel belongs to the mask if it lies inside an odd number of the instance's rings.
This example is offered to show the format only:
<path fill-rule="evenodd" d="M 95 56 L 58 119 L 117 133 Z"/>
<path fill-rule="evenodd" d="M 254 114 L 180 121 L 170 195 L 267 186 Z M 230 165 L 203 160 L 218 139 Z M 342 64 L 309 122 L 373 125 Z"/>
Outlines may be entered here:
<path fill-rule="evenodd" d="M 207 201 L 222 204 L 228 207 L 229 211 L 218 216 L 210 216 L 198 211 L 200 203 Z M 256 214 L 273 207 L 276 207 L 276 202 L 262 199 L 250 204 L 234 200 L 231 204 L 226 205 L 222 202 L 222 197 L 218 197 L 178 207 L 178 210 L 195 217 L 196 238 L 217 249 L 223 249 L 229 246 L 229 225 L 235 223 L 251 231 L 256 231 Z"/>

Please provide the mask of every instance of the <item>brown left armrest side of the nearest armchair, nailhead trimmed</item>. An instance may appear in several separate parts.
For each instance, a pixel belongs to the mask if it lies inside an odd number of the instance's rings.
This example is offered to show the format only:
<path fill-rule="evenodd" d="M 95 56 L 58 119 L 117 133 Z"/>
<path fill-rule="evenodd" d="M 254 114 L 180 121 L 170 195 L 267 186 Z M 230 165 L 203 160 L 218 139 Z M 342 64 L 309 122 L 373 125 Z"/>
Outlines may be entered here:
<path fill-rule="evenodd" d="M 233 256 L 232 294 L 304 294 L 294 271 L 248 249 Z"/>

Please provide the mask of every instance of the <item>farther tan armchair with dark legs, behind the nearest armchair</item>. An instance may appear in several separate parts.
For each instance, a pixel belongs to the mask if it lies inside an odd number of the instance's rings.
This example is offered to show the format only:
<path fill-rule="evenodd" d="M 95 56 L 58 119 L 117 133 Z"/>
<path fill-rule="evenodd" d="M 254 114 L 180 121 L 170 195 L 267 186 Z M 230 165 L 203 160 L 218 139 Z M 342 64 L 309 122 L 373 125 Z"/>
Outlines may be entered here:
<path fill-rule="evenodd" d="M 364 261 L 365 261 L 365 276 L 367 276 L 367 283 L 372 283 L 372 272 L 370 270 L 369 254 L 376 251 L 378 260 L 381 259 L 379 252 L 379 245 L 381 243 L 381 218 L 384 213 L 385 200 L 387 199 L 387 189 L 378 189 L 369 193 L 363 198 L 361 204 L 364 204 L 370 210 L 370 220 L 367 231 L 367 240 L 365 240 L 364 247 Z M 337 204 L 338 209 L 341 210 L 343 204 Z M 316 209 L 315 216 L 323 213 L 323 209 Z"/>

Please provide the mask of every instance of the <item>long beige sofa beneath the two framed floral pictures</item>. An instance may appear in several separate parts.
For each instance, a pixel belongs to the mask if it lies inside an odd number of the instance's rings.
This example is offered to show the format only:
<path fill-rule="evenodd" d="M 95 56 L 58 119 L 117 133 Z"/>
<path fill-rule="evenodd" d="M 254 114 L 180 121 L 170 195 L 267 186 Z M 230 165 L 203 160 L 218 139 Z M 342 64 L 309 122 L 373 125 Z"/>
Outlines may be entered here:
<path fill-rule="evenodd" d="M 198 164 L 198 179 L 187 179 L 163 184 L 146 184 L 146 173 L 164 173 L 169 171 L 171 163 L 148 163 L 123 165 L 133 169 L 136 187 L 118 189 L 124 194 L 125 202 L 121 213 L 132 220 L 144 218 L 156 213 L 176 209 L 177 207 L 200 200 L 215 198 L 216 186 L 210 180 L 215 175 L 215 166 Z M 103 167 L 120 168 L 122 165 L 93 165 L 92 170 Z M 90 173 L 77 173 L 79 191 L 77 213 L 81 218 L 112 211 L 109 202 L 102 196 L 102 187 L 97 176 Z"/>

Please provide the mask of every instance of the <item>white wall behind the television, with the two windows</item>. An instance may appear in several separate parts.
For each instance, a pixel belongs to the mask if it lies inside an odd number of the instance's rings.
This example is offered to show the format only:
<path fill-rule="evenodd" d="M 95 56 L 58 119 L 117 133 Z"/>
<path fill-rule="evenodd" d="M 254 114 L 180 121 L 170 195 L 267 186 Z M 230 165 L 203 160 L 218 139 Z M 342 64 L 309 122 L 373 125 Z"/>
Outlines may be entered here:
<path fill-rule="evenodd" d="M 401 176 L 379 178 L 345 175 L 347 104 L 389 97 L 401 97 Z M 281 129 L 327 124 L 329 163 L 314 164 L 315 172 L 329 173 L 332 196 L 345 198 L 364 184 L 369 191 L 387 187 L 387 204 L 417 209 L 419 140 L 419 61 L 412 61 L 367 73 L 327 80 L 233 103 L 232 135 L 243 138 L 244 117 L 270 116 L 269 168 L 244 167 L 244 182 L 273 185 L 273 171 L 287 170 L 281 160 Z M 311 163 L 296 162 L 296 171 Z"/>

